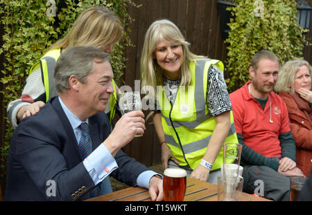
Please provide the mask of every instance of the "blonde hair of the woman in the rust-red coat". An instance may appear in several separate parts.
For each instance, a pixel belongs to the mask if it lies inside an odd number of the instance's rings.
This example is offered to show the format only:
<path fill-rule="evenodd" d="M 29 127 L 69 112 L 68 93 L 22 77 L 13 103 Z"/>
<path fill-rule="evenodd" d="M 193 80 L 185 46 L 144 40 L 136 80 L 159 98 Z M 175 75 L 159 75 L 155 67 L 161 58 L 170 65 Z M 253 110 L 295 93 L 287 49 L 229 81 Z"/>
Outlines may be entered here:
<path fill-rule="evenodd" d="M 309 62 L 306 62 L 303 59 L 288 61 L 279 70 L 279 77 L 277 78 L 277 82 L 274 87 L 275 92 L 295 93 L 293 83 L 295 82 L 295 76 L 300 66 L 308 67 L 310 76 L 312 77 L 312 68 Z"/>

